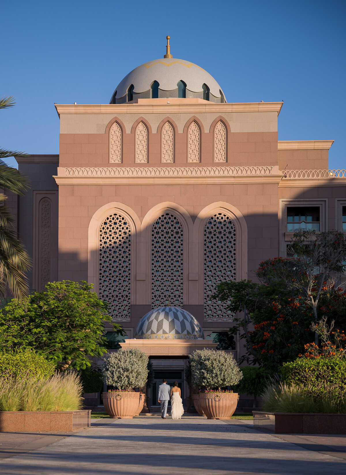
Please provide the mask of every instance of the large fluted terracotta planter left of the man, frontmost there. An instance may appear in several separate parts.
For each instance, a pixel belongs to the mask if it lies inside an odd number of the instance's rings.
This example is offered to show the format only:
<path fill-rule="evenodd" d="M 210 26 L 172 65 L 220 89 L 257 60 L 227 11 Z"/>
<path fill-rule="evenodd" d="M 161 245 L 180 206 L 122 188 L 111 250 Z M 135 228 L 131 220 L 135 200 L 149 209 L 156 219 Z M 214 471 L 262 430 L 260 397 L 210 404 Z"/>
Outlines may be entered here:
<path fill-rule="evenodd" d="M 103 392 L 103 405 L 111 419 L 132 419 L 138 412 L 140 392 Z"/>

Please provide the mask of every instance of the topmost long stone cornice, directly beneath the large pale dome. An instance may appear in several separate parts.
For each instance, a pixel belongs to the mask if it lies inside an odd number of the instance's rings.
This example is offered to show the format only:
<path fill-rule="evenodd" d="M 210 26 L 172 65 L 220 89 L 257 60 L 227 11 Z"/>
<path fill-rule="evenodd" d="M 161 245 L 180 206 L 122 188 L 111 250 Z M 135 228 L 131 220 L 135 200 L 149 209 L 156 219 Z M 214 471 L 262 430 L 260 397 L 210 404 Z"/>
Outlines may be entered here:
<path fill-rule="evenodd" d="M 241 102 L 215 104 L 55 104 L 60 114 L 194 114 L 225 112 L 276 112 L 281 111 L 282 102 Z"/>

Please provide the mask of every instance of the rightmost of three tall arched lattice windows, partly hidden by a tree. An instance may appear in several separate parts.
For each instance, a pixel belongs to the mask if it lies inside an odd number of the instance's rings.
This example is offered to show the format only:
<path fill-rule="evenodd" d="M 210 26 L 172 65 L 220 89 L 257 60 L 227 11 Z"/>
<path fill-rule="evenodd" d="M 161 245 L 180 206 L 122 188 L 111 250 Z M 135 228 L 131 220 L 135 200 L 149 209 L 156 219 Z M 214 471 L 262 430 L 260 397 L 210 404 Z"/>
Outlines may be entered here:
<path fill-rule="evenodd" d="M 213 300 L 215 285 L 235 280 L 236 230 L 224 213 L 216 213 L 204 227 L 204 321 L 230 322 L 233 314 L 226 304 Z"/>

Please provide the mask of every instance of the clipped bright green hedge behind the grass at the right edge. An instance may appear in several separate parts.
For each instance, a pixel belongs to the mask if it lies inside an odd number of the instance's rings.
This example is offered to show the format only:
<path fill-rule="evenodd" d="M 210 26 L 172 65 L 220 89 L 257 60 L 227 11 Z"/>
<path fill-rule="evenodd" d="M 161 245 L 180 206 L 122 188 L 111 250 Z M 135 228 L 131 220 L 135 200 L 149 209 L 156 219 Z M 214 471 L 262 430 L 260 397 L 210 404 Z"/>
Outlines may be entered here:
<path fill-rule="evenodd" d="M 282 381 L 289 386 L 309 384 L 324 391 L 328 386 L 344 390 L 346 386 L 346 360 L 339 358 L 297 358 L 281 367 Z"/>

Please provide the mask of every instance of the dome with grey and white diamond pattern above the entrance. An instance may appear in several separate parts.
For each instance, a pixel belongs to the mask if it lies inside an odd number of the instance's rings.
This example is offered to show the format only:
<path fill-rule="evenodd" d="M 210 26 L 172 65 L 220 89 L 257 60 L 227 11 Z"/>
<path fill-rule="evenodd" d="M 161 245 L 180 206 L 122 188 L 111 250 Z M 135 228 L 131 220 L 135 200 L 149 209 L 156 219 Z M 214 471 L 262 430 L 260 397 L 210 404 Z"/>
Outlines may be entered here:
<path fill-rule="evenodd" d="M 141 318 L 134 332 L 140 340 L 197 340 L 204 339 L 201 325 L 186 310 L 161 307 Z"/>

